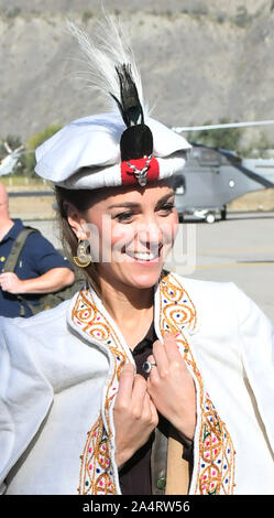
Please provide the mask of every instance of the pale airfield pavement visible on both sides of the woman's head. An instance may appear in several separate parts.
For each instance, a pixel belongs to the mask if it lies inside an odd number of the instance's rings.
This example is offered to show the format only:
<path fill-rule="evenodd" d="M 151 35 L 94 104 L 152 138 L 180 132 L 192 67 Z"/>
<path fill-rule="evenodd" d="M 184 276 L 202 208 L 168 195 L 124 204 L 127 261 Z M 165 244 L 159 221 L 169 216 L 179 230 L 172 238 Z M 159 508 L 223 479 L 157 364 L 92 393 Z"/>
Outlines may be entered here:
<path fill-rule="evenodd" d="M 61 248 L 54 220 L 28 220 Z M 167 260 L 168 270 L 241 288 L 274 324 L 274 213 L 229 214 L 213 224 L 185 223 Z"/>

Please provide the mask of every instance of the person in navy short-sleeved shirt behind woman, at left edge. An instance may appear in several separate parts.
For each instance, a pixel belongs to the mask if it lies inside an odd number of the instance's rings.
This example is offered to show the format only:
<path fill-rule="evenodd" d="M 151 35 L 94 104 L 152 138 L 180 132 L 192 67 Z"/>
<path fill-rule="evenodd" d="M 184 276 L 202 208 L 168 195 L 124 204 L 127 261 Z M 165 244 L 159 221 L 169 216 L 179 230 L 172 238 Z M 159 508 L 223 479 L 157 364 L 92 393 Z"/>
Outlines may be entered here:
<path fill-rule="evenodd" d="M 75 274 L 68 260 L 39 231 L 31 233 L 19 256 L 14 271 L 6 271 L 13 244 L 24 229 L 21 219 L 9 214 L 7 190 L 0 183 L 0 315 L 32 316 L 30 304 L 40 296 L 70 285 Z"/>

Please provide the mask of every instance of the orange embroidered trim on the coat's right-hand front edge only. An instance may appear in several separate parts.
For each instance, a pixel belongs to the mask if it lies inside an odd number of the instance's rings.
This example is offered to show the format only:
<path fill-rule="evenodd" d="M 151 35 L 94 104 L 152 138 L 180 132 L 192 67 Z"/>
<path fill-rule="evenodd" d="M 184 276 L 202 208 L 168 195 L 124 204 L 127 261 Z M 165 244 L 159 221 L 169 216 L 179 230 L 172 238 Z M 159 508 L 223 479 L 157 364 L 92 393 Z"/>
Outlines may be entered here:
<path fill-rule="evenodd" d="M 184 327 L 194 330 L 197 324 L 196 309 L 187 292 L 172 273 L 161 283 L 160 328 L 180 336 L 176 337 L 178 348 L 190 367 L 199 386 L 200 429 L 199 460 L 195 494 L 232 494 L 234 487 L 234 449 L 226 424 L 205 391 L 200 371 L 184 336 Z"/>

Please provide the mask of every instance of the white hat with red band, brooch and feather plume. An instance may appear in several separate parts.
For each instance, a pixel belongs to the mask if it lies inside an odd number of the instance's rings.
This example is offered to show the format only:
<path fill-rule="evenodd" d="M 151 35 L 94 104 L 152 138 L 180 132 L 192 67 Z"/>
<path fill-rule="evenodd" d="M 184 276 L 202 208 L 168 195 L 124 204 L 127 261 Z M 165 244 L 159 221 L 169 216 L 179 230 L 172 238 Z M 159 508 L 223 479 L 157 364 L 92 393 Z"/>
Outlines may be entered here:
<path fill-rule="evenodd" d="M 70 30 L 88 57 L 92 85 L 105 90 L 119 110 L 65 126 L 37 148 L 36 173 L 66 188 L 92 190 L 144 186 L 182 171 L 191 147 L 146 112 L 133 55 L 112 20 L 107 18 L 107 26 L 101 25 L 103 48 L 74 24 Z"/>

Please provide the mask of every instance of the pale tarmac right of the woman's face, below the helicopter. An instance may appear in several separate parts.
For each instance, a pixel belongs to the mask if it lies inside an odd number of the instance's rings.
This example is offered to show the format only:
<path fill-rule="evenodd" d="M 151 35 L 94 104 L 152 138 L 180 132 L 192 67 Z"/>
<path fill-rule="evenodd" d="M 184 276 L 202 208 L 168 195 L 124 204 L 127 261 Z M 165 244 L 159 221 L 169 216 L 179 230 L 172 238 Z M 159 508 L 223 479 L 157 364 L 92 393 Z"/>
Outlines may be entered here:
<path fill-rule="evenodd" d="M 212 225 L 196 224 L 195 229 L 196 236 L 194 233 L 190 240 L 196 240 L 196 261 L 193 268 L 189 261 L 189 273 L 186 271 L 186 274 L 201 280 L 234 282 L 274 323 L 274 214 L 260 217 L 233 215 L 229 220 Z M 182 274 L 184 268 L 175 266 Z"/>

